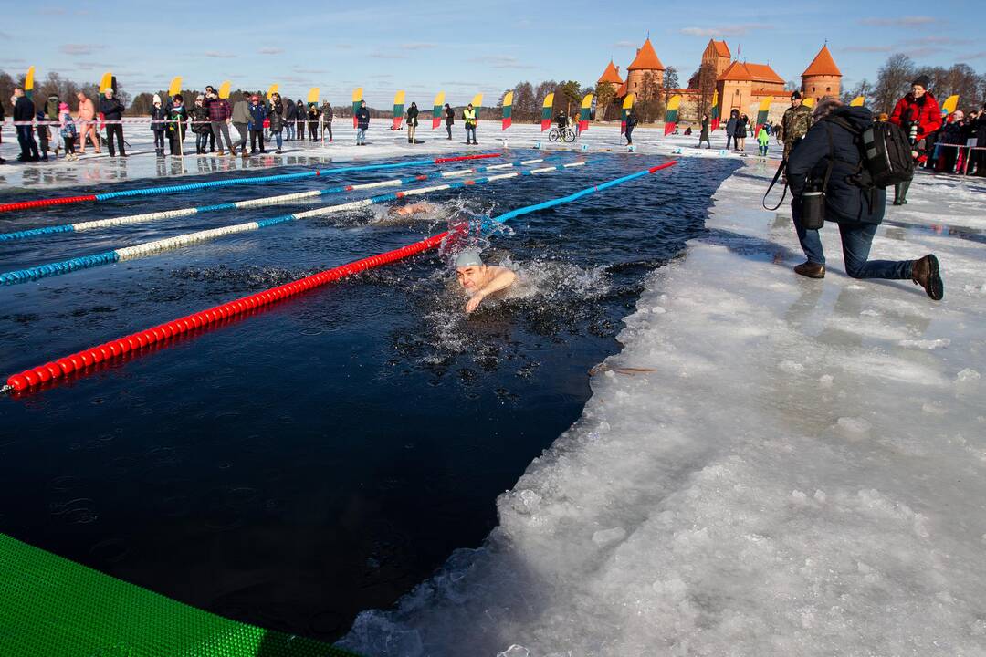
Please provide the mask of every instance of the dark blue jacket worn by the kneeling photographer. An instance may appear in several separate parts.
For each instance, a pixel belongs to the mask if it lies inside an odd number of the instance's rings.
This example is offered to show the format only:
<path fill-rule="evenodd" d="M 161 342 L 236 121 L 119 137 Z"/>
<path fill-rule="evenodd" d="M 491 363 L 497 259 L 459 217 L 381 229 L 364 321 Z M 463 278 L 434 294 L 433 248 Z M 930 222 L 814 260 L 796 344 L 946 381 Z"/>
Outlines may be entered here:
<path fill-rule="evenodd" d="M 799 196 L 810 180 L 820 185 L 828 166 L 828 135 L 832 135 L 832 173 L 825 188 L 825 220 L 829 222 L 880 224 L 886 206 L 886 190 L 864 189 L 849 181 L 857 172 L 862 155 L 859 137 L 829 120 L 840 117 L 864 130 L 873 124 L 873 114 L 866 107 L 839 107 L 811 126 L 788 158 L 788 183 L 795 196 L 792 210 L 799 211 Z"/>

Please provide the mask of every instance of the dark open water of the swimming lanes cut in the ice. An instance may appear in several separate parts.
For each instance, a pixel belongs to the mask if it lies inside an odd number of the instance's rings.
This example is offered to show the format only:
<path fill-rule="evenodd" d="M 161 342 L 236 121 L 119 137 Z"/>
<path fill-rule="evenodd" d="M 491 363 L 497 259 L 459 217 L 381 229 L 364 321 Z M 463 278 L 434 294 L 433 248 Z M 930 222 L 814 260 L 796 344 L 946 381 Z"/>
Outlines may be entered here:
<path fill-rule="evenodd" d="M 659 160 L 610 156 L 430 200 L 503 212 Z M 578 418 L 588 370 L 619 349 L 647 275 L 703 230 L 709 197 L 735 166 L 684 159 L 515 220 L 485 255 L 519 270 L 518 297 L 468 319 L 432 252 L 0 399 L 0 531 L 230 618 L 336 638 L 361 610 L 386 608 L 454 549 L 482 542 L 496 495 Z M 400 174 L 55 208 L 5 217 L 0 230 Z M 304 207 L 0 244 L 0 271 Z M 440 218 L 375 221 L 367 210 L 295 222 L 0 288 L 0 373 L 445 228 Z"/>

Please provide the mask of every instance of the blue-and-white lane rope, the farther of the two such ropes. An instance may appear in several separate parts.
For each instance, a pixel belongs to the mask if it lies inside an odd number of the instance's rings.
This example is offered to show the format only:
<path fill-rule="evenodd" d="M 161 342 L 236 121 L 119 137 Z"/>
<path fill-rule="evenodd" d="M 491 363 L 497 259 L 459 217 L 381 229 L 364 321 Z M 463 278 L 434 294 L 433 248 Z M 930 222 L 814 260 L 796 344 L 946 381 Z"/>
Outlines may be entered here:
<path fill-rule="evenodd" d="M 145 213 L 143 215 L 129 215 L 126 217 L 98 219 L 91 222 L 62 224 L 60 226 L 46 226 L 36 229 L 16 230 L 14 232 L 0 232 L 0 242 L 11 241 L 15 239 L 27 239 L 30 237 L 53 235 L 61 232 L 78 232 L 81 230 L 93 230 L 93 229 L 103 229 L 103 228 L 110 228 L 117 226 L 128 226 L 130 224 L 145 224 L 148 222 L 156 222 L 166 219 L 176 219 L 179 217 L 190 217 L 191 215 L 201 215 L 209 212 L 218 212 L 222 210 L 246 210 L 249 208 L 260 208 L 264 206 L 281 205 L 285 203 L 294 203 L 297 201 L 312 199 L 318 196 L 328 196 L 329 194 L 359 191 L 362 189 L 374 189 L 377 187 L 398 187 L 411 182 L 419 182 L 422 180 L 431 180 L 435 178 L 452 178 L 452 177 L 457 177 L 459 175 L 468 175 L 469 173 L 478 173 L 480 171 L 490 171 L 490 170 L 497 170 L 501 168 L 512 168 L 514 166 L 520 166 L 520 165 L 537 164 L 552 158 L 553 157 L 542 158 L 539 160 L 522 160 L 519 162 L 512 162 L 507 164 L 491 164 L 489 166 L 473 166 L 471 168 L 461 168 L 455 171 L 438 171 L 437 173 L 429 173 L 427 175 L 424 174 L 412 175 L 403 178 L 393 178 L 392 180 L 383 180 L 380 182 L 366 182 L 366 183 L 355 184 L 355 185 L 354 184 L 340 185 L 338 187 L 327 187 L 325 189 L 316 189 L 307 192 L 297 192 L 294 194 L 282 194 L 280 196 L 267 196 L 264 198 L 251 199 L 247 201 L 234 201 L 231 203 L 206 205 L 206 206 L 200 206 L 198 208 L 182 208 L 180 210 L 165 210 L 161 212 Z"/>

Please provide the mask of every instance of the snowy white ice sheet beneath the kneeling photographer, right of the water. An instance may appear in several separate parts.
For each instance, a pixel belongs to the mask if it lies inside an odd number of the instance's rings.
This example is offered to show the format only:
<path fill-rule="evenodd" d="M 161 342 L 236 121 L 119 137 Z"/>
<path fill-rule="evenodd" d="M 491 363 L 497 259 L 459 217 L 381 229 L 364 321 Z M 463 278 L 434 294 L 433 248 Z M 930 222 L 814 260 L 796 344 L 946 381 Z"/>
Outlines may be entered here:
<path fill-rule="evenodd" d="M 760 208 L 775 164 L 740 168 L 709 235 L 654 274 L 486 545 L 344 645 L 986 655 L 986 186 L 922 174 L 887 209 L 871 257 L 937 253 L 936 303 L 849 279 L 831 226 L 828 276 L 796 276 L 790 210 Z"/>

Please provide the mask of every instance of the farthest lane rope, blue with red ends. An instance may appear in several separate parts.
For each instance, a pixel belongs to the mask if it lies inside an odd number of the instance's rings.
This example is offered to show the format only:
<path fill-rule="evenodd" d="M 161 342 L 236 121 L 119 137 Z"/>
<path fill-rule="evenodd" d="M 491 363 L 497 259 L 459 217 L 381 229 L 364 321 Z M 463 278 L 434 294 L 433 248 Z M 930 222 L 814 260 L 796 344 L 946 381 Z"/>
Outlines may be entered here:
<path fill-rule="evenodd" d="M 364 164 L 361 166 L 340 166 L 338 168 L 315 169 L 314 171 L 302 171 L 299 173 L 278 173 L 276 175 L 259 175 L 249 178 L 228 178 L 226 180 L 207 180 L 204 182 L 189 182 L 183 185 L 165 185 L 162 187 L 144 187 L 141 189 L 125 189 L 117 192 L 106 192 L 104 194 L 86 194 L 84 196 L 69 196 L 61 198 L 36 199 L 34 201 L 18 201 L 16 203 L 0 204 L 0 212 L 12 212 L 14 210 L 31 210 L 34 208 L 44 208 L 52 205 L 67 205 L 70 203 L 85 203 L 108 201 L 115 198 L 127 198 L 133 196 L 152 196 L 156 194 L 174 194 L 177 192 L 189 192 L 210 187 L 229 187 L 231 185 L 263 184 L 277 180 L 297 180 L 299 178 L 309 178 L 317 175 L 336 175 L 338 173 L 348 173 L 351 171 L 369 171 L 385 168 L 401 168 L 405 166 L 421 166 L 427 164 L 445 164 L 450 162 L 462 162 L 464 160 L 485 160 L 488 158 L 500 158 L 501 153 L 483 153 L 477 155 L 458 156 L 455 158 L 437 158 L 435 160 L 415 160 L 412 162 L 401 162 L 393 164 Z"/>

